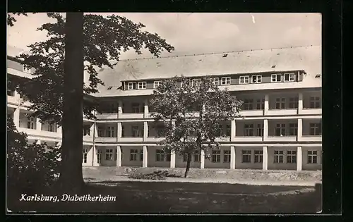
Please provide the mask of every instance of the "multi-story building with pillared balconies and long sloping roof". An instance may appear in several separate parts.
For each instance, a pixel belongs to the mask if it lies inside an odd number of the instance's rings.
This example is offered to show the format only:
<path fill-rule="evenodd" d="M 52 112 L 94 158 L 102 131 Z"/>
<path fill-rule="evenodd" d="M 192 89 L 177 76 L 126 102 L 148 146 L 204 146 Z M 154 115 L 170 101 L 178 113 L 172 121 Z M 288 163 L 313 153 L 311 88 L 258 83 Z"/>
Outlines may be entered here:
<path fill-rule="evenodd" d="M 13 51 L 13 49 L 11 49 Z M 8 78 L 31 78 L 8 53 Z M 210 75 L 244 101 L 241 115 L 224 123 L 221 148 L 193 155 L 193 168 L 321 169 L 321 47 L 236 51 L 222 54 L 122 60 L 102 68 L 105 82 L 94 98 L 96 121 L 84 119 L 83 166 L 185 167 L 186 158 L 164 154 L 149 106 L 165 78 Z M 8 92 L 8 115 L 30 142 L 58 144 L 61 129 L 28 118 L 26 103 Z"/>

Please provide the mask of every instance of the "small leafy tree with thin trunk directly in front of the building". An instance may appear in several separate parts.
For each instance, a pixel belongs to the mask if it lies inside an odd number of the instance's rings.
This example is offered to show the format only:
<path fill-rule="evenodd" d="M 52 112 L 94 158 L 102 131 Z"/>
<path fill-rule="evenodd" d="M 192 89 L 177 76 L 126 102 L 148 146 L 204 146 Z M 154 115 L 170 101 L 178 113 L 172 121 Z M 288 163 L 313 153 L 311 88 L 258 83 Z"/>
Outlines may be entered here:
<path fill-rule="evenodd" d="M 174 77 L 164 80 L 152 94 L 150 101 L 155 125 L 164 130 L 159 142 L 164 152 L 187 155 L 185 177 L 193 154 L 219 149 L 218 137 L 224 137 L 222 123 L 239 117 L 241 101 L 220 90 L 209 77 L 198 80 Z"/>

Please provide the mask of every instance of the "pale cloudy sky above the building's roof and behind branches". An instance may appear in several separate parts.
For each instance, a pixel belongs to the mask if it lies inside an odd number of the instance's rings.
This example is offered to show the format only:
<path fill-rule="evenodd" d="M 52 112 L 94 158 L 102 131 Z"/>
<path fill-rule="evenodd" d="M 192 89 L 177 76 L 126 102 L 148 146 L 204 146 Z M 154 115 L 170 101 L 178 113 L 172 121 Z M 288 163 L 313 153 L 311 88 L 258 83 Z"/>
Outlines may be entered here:
<path fill-rule="evenodd" d="M 112 13 L 97 13 L 108 16 Z M 161 56 L 222 53 L 251 49 L 273 49 L 321 45 L 319 13 L 116 13 L 135 23 L 143 23 L 148 32 L 156 32 L 175 47 Z M 26 49 L 46 39 L 37 27 L 54 22 L 46 13 L 16 16 L 8 27 L 8 45 Z M 133 50 L 120 59 L 152 57 L 148 51 L 138 56 Z"/>

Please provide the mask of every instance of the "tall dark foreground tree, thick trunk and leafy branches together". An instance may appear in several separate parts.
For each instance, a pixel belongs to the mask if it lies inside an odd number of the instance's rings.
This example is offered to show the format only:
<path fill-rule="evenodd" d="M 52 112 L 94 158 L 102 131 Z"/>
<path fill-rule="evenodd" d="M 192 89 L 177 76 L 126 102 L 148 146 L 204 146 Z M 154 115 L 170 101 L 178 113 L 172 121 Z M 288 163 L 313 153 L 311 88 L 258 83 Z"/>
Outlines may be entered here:
<path fill-rule="evenodd" d="M 83 185 L 82 111 L 94 118 L 92 111 L 97 108 L 97 104 L 84 100 L 83 94 L 98 92 L 97 85 L 104 85 L 97 77 L 97 69 L 114 68 L 121 51 L 134 49 L 141 54 L 144 47 L 159 56 L 164 49 L 170 52 L 174 47 L 156 33 L 141 30 L 145 27 L 142 23 L 121 16 L 66 13 L 65 19 L 59 13 L 47 15 L 56 23 L 43 24 L 37 30 L 46 30 L 49 39 L 30 44 L 30 54 L 18 56 L 25 68 L 34 68 L 34 77 L 10 85 L 11 90 L 17 90 L 32 103 L 29 109 L 34 111 L 33 117 L 62 126 L 61 183 L 66 190 L 79 190 Z M 89 85 L 83 83 L 83 67 L 90 75 Z"/>

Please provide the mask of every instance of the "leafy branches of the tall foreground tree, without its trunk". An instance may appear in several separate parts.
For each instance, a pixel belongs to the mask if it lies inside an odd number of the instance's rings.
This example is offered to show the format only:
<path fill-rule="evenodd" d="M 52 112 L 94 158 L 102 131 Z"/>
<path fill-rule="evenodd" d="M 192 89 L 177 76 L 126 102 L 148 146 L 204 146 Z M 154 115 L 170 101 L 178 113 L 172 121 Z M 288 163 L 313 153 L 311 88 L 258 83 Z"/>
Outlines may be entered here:
<path fill-rule="evenodd" d="M 34 77 L 26 81 L 16 81 L 11 84 L 33 105 L 31 110 L 42 121 L 61 123 L 63 106 L 64 77 L 64 40 L 65 18 L 59 13 L 47 13 L 56 23 L 45 23 L 38 31 L 47 31 L 49 39 L 30 44 L 30 54 L 20 54 L 18 59 L 25 68 L 35 70 Z M 16 21 L 16 20 L 12 20 Z M 13 23 L 8 23 L 11 25 Z M 99 16 L 86 14 L 84 16 L 84 66 L 89 74 L 89 84 L 84 85 L 85 94 L 96 93 L 97 86 L 104 85 L 98 78 L 102 66 L 113 68 L 119 62 L 121 52 L 133 49 L 137 54 L 142 49 L 148 49 L 154 56 L 159 56 L 164 50 L 174 50 L 170 44 L 159 35 L 143 31 L 142 23 L 133 23 L 121 16 Z M 94 103 L 84 103 L 85 115 L 92 117 L 91 111 L 96 108 Z"/>

